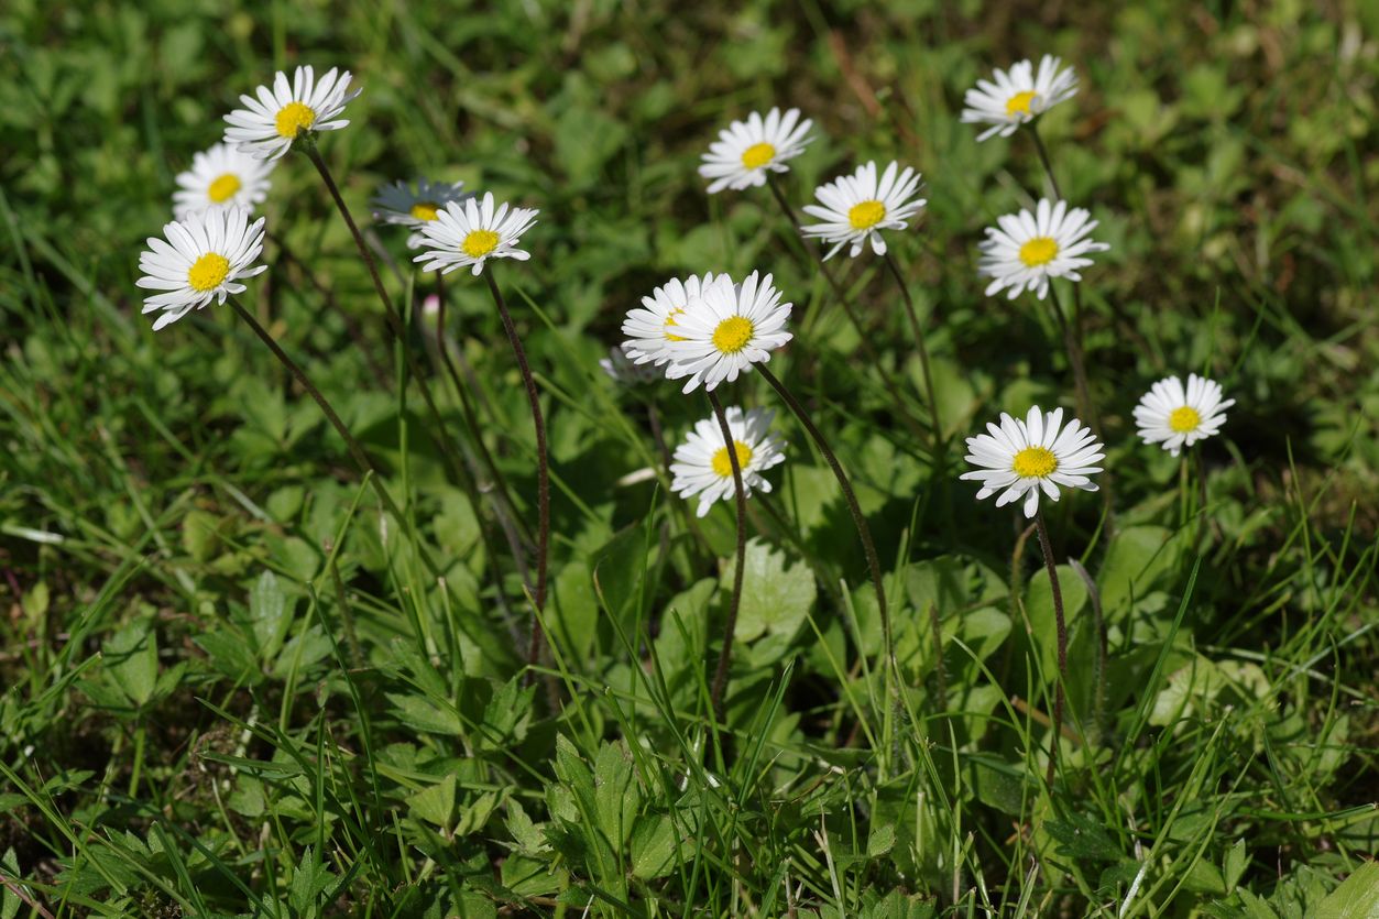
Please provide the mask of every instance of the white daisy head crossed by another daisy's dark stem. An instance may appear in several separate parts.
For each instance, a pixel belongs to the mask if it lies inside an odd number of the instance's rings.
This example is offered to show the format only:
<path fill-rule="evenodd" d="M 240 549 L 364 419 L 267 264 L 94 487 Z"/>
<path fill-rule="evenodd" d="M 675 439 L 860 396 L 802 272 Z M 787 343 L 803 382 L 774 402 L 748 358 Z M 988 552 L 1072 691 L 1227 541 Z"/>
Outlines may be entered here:
<path fill-rule="evenodd" d="M 785 442 L 771 433 L 775 413 L 769 408 L 753 408 L 743 415 L 742 408 L 732 406 L 724 415 L 742 468 L 743 494 L 750 497 L 753 488 L 771 491 L 771 483 L 761 473 L 785 462 Z M 699 495 L 699 509 L 695 513 L 701 517 L 709 513 L 714 501 L 734 497 L 736 488 L 732 482 L 732 458 L 716 417 L 709 415 L 696 422 L 685 442 L 676 447 L 670 473 L 674 476 L 672 491 L 681 498 Z"/>

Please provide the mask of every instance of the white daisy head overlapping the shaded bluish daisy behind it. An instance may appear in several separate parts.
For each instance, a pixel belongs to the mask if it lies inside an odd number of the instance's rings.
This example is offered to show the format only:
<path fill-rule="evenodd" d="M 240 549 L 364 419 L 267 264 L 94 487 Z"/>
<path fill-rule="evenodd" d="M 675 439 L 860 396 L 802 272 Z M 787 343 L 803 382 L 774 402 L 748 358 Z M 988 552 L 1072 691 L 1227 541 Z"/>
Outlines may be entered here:
<path fill-rule="evenodd" d="M 538 211 L 528 207 L 499 204 L 494 208 L 492 192 L 484 192 L 483 203 L 473 197 L 463 201 L 447 201 L 437 211 L 436 219 L 421 226 L 419 248 L 425 251 L 414 262 L 425 262 L 423 270 L 437 268 L 448 275 L 456 268 L 473 266 L 473 275 L 484 270 L 490 258 L 516 258 L 527 261 L 531 253 L 516 248 L 521 235 L 536 222 Z"/>

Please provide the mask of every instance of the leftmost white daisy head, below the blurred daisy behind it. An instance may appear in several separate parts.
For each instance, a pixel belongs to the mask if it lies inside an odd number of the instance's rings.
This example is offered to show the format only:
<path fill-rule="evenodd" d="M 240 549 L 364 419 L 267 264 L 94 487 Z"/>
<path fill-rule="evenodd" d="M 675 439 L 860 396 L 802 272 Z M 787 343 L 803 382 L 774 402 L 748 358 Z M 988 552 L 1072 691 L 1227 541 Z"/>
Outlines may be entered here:
<path fill-rule="evenodd" d="M 135 284 L 163 291 L 143 298 L 145 313 L 163 310 L 153 331 L 212 299 L 223 304 L 230 294 L 244 291 L 237 280 L 268 268 L 254 266 L 263 251 L 263 218 L 248 221 L 247 207 L 215 207 L 168 224 L 163 228 L 165 239 L 149 237 L 149 247 L 139 254 L 143 277 Z"/>

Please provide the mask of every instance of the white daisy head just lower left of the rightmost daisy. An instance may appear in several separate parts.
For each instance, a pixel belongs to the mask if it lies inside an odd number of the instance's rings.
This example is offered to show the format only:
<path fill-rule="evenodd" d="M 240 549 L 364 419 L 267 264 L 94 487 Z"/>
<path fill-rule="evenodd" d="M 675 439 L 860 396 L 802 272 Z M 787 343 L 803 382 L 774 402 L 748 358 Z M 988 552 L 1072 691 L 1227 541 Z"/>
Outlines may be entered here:
<path fill-rule="evenodd" d="M 982 468 L 960 477 L 982 483 L 978 500 L 1000 491 L 998 508 L 1023 497 L 1026 517 L 1038 511 L 1040 491 L 1049 501 L 1058 501 L 1059 486 L 1096 491 L 1091 476 L 1102 469 L 1091 464 L 1106 455 L 1102 444 L 1081 421 L 1062 424 L 1062 408 L 1045 414 L 1034 406 L 1023 421 L 1003 413 L 1000 426 L 987 422 L 990 433 L 967 439 L 965 460 Z"/>

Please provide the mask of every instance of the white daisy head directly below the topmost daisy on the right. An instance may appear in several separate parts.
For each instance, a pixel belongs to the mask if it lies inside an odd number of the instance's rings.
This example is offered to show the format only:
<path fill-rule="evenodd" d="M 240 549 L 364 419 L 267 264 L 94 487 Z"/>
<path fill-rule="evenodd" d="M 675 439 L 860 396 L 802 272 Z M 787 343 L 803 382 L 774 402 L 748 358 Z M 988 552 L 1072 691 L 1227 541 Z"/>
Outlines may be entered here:
<path fill-rule="evenodd" d="M 1020 210 L 996 218 L 1000 228 L 986 228 L 986 239 L 978 246 L 978 272 L 993 279 L 986 295 L 1009 287 L 1011 299 L 1026 290 L 1044 299 L 1049 277 L 1083 280 L 1078 269 L 1092 264 L 1087 255 L 1110 248 L 1087 239 L 1096 228 L 1091 217 L 1085 208 L 1069 210 L 1066 201 L 1041 197 L 1033 214 Z"/>

